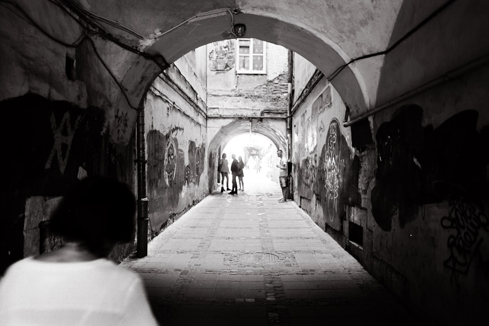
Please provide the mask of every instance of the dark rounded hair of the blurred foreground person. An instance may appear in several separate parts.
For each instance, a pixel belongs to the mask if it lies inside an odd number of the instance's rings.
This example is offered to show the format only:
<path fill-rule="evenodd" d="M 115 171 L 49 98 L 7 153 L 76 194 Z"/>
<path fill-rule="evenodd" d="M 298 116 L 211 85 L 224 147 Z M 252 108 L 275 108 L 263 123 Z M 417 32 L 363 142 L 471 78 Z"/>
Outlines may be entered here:
<path fill-rule="evenodd" d="M 103 176 L 82 179 L 51 215 L 51 230 L 92 254 L 134 237 L 136 201 L 127 184 Z"/>

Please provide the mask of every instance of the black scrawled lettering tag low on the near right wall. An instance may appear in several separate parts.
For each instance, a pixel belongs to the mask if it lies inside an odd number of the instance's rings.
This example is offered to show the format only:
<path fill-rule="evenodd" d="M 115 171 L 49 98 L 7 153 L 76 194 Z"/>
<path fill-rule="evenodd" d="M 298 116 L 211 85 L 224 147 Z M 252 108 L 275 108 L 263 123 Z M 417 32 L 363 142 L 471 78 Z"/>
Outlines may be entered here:
<path fill-rule="evenodd" d="M 442 217 L 442 227 L 454 231 L 448 237 L 450 252 L 444 265 L 451 272 L 450 281 L 459 285 L 459 277 L 467 275 L 475 263 L 483 274 L 489 278 L 489 247 L 483 247 L 484 233 L 489 233 L 489 217 L 484 207 L 460 198 L 450 203 L 448 216 Z"/>

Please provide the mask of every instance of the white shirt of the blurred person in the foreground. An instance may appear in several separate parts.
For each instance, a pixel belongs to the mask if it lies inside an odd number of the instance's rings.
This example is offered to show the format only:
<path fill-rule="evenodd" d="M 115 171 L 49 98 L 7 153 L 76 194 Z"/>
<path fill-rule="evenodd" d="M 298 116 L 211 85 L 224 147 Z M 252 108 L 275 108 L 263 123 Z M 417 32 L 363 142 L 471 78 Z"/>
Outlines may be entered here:
<path fill-rule="evenodd" d="M 139 276 L 107 259 L 12 264 L 0 282 L 0 324 L 157 325 Z"/>

